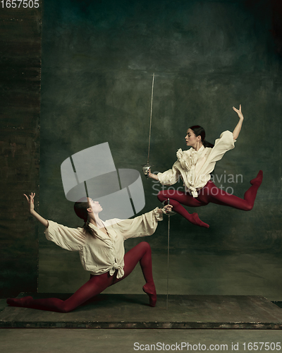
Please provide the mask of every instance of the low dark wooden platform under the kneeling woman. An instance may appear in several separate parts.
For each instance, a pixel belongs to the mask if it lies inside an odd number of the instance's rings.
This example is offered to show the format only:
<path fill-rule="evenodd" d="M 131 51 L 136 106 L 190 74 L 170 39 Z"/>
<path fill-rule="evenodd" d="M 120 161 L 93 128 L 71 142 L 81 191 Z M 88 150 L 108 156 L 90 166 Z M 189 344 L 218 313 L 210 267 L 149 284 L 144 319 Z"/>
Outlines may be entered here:
<path fill-rule="evenodd" d="M 34 298 L 70 294 L 25 294 Z M 281 329 L 282 309 L 260 296 L 158 295 L 157 306 L 146 294 L 99 294 L 71 313 L 7 306 L 1 328 L 249 328 Z"/>

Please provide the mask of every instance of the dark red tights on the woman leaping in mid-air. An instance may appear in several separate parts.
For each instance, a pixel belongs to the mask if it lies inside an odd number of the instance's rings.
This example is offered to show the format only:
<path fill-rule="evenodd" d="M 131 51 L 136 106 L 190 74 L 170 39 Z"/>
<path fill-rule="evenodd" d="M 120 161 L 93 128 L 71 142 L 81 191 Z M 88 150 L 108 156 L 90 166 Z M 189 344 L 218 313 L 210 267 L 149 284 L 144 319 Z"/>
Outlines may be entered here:
<path fill-rule="evenodd" d="M 185 217 L 186 220 L 190 221 L 193 225 L 209 228 L 207 223 L 200 220 L 197 213 L 192 213 L 191 215 L 182 205 L 180 205 L 180 203 L 186 206 L 200 207 L 211 202 L 216 203 L 217 205 L 238 208 L 238 210 L 252 210 L 257 196 L 257 189 L 259 189 L 260 184 L 262 184 L 262 177 L 262 170 L 260 170 L 257 177 L 250 181 L 252 186 L 250 186 L 250 189 L 245 192 L 244 198 L 238 198 L 230 193 L 226 193 L 217 188 L 212 181 L 208 181 L 208 183 L 198 191 L 197 198 L 194 198 L 189 193 L 170 189 L 160 191 L 158 198 L 161 202 L 164 202 L 169 198 L 169 203 L 173 205 L 173 211 Z"/>

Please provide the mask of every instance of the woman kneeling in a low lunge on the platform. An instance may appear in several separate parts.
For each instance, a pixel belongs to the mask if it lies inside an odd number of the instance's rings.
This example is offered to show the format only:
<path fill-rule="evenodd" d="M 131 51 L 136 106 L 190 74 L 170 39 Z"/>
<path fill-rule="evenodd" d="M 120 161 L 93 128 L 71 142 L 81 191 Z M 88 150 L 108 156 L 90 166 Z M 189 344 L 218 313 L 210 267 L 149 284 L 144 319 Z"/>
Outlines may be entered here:
<path fill-rule="evenodd" d="M 162 213 L 171 210 L 172 206 L 167 205 L 163 210 L 155 208 L 132 220 L 114 219 L 103 222 L 99 219 L 99 213 L 102 211 L 101 205 L 87 198 L 87 202 L 77 202 L 74 205 L 75 213 L 85 221 L 83 228 L 75 229 L 45 220 L 35 212 L 35 193 L 32 193 L 30 198 L 26 195 L 25 197 L 30 203 L 30 213 L 46 227 L 47 239 L 54 241 L 63 249 L 79 251 L 83 268 L 90 272 L 90 280 L 65 301 L 57 298 L 24 297 L 7 299 L 7 304 L 67 313 L 107 287 L 123 280 L 140 262 L 146 281 L 143 291 L 149 296 L 149 305 L 156 305 L 157 294 L 152 275 L 149 244 L 142 241 L 125 253 L 123 242 L 128 238 L 152 235 L 157 228 L 158 221 L 162 220 Z"/>

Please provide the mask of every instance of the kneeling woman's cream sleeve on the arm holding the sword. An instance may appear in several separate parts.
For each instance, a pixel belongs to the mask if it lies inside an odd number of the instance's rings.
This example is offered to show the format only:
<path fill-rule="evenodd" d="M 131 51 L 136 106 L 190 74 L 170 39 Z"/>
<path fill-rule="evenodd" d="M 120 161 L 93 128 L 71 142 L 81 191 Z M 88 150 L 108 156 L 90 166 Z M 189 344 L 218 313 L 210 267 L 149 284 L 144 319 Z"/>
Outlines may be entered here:
<path fill-rule="evenodd" d="M 158 221 L 163 220 L 163 214 L 158 213 L 157 210 L 159 208 L 133 219 L 118 222 L 116 224 L 118 232 L 122 234 L 123 239 L 147 237 L 154 234 Z"/>

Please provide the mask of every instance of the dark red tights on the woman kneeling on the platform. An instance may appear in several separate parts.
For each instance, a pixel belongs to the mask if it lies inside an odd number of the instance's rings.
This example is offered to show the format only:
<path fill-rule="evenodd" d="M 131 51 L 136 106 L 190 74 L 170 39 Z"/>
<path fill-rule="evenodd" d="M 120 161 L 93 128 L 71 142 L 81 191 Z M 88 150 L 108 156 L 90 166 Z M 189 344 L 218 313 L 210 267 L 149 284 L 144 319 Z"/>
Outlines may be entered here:
<path fill-rule="evenodd" d="M 32 297 L 24 297 L 20 299 L 9 298 L 7 299 L 7 304 L 11 306 L 22 306 L 24 308 L 67 313 L 85 303 L 88 299 L 103 292 L 107 287 L 123 280 L 133 271 L 138 262 L 140 262 L 142 273 L 146 281 L 143 291 L 149 296 L 149 305 L 155 306 L 157 294 L 152 275 L 152 252 L 146 241 L 142 241 L 140 244 L 134 246 L 133 249 L 125 253 L 123 268 L 124 275 L 122 278 L 116 279 L 116 273 L 113 276 L 110 276 L 109 273 L 97 276 L 91 275 L 90 280 L 66 300 L 57 298 L 33 299 Z"/>

